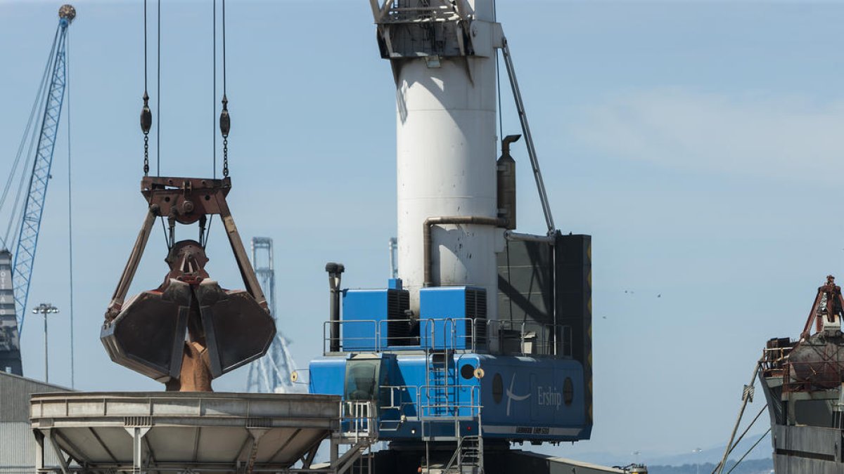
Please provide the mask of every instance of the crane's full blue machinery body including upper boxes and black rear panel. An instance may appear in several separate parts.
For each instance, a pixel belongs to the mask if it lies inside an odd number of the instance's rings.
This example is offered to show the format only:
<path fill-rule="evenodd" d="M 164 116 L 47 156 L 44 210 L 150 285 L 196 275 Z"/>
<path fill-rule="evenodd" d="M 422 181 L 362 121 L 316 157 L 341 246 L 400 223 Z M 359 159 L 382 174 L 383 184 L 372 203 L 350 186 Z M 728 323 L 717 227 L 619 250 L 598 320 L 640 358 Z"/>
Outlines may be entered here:
<path fill-rule="evenodd" d="M 591 239 L 508 242 L 499 314 L 484 288 L 400 280 L 344 290 L 339 350 L 311 361 L 309 389 L 374 402 L 378 438 L 552 442 L 592 434 Z"/>

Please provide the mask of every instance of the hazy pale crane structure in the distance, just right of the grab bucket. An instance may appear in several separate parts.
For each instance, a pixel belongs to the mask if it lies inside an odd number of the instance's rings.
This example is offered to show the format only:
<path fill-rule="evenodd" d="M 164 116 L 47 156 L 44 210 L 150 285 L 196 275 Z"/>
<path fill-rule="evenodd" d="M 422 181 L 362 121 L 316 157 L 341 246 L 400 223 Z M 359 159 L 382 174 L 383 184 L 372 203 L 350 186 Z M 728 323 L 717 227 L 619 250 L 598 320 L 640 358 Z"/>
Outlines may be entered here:
<path fill-rule="evenodd" d="M 270 314 L 275 312 L 275 268 L 273 267 L 273 240 L 268 237 L 252 237 L 252 267 L 261 283 Z M 279 328 L 276 322 L 276 328 Z M 267 355 L 249 364 L 246 391 L 251 393 L 297 393 L 304 392 L 294 384 L 295 364 L 287 347 L 287 339 L 277 329 Z"/>

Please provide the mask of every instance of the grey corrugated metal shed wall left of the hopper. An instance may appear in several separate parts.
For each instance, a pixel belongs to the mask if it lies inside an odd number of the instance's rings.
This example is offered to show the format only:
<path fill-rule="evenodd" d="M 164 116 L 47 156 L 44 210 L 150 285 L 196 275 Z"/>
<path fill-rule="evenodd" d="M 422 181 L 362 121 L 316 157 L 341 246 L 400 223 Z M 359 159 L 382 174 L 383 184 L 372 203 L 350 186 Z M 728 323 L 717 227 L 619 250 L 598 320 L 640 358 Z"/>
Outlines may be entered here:
<path fill-rule="evenodd" d="M 35 472 L 35 437 L 30 428 L 30 395 L 68 391 L 37 380 L 0 372 L 0 474 Z M 47 462 L 57 466 L 51 450 Z"/>

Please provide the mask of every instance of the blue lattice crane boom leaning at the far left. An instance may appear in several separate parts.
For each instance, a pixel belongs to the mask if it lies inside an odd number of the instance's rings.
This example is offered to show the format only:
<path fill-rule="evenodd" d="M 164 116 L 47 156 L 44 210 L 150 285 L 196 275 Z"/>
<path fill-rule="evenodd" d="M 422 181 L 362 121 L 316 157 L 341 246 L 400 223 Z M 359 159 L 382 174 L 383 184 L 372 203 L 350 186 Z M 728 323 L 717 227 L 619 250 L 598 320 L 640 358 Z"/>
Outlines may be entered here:
<path fill-rule="evenodd" d="M 8 226 L 0 241 L 0 370 L 15 374 L 22 372 L 19 333 L 24 329 L 35 250 L 68 82 L 68 26 L 76 17 L 76 10 L 71 5 L 62 5 L 58 16 L 41 85 L 0 196 L 0 212 L 8 213 Z M 36 115 L 39 112 L 41 115 Z M 7 206 L 11 196 L 14 196 L 14 203 Z M 17 231 L 16 234 L 12 234 L 13 231 Z M 9 251 L 13 247 L 14 254 Z M 8 288 L 9 283 L 11 288 Z M 9 298 L 14 299 L 14 304 L 8 301 Z"/>

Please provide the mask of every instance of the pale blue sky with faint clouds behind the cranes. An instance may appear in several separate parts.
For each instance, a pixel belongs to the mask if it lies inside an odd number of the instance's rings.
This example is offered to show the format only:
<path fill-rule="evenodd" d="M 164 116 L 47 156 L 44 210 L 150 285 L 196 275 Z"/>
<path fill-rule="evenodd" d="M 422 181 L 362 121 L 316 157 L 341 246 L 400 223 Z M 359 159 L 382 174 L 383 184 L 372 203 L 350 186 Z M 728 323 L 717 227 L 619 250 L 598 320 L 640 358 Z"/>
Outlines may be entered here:
<path fill-rule="evenodd" d="M 76 385 L 158 390 L 111 364 L 98 341 L 144 212 L 143 3 L 74 4 Z M 57 7 L 0 0 L 0 173 L 11 166 Z M 844 5 L 499 0 L 498 14 L 555 220 L 593 235 L 596 424 L 591 441 L 547 450 L 639 450 L 647 461 L 723 442 L 766 339 L 796 337 L 814 289 L 844 265 Z M 227 15 L 230 205 L 246 239 L 275 240 L 279 327 L 304 367 L 320 353 L 327 317 L 324 263 L 343 261 L 353 288 L 381 287 L 388 276 L 392 75 L 362 0 L 230 0 Z M 161 48 L 161 172 L 208 175 L 211 3 L 165 2 Z M 505 132 L 517 132 L 506 94 L 504 115 Z M 66 137 L 30 293 L 30 305 L 62 310 Z M 514 155 L 520 230 L 538 232 L 527 157 Z M 160 283 L 161 239 L 150 240 L 130 293 Z M 237 286 L 225 236 L 212 229 L 211 241 L 209 272 Z M 41 378 L 41 324 L 27 325 L 24 371 Z M 50 327 L 51 381 L 69 385 L 68 311 Z M 228 374 L 215 388 L 242 390 L 245 377 Z"/>

